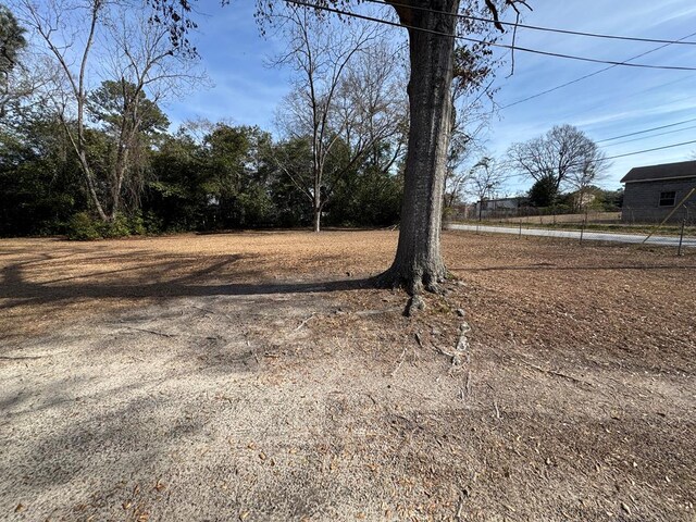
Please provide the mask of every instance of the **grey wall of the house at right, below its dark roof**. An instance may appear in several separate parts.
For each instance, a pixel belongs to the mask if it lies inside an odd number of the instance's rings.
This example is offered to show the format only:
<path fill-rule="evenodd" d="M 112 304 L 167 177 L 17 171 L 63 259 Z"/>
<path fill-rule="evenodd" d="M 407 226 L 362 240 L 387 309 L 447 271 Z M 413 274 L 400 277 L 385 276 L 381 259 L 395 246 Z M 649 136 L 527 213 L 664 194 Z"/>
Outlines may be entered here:
<path fill-rule="evenodd" d="M 696 188 L 696 177 L 674 181 L 629 182 L 623 195 L 621 219 L 629 223 L 661 222 L 693 188 Z M 659 207 L 660 192 L 667 191 L 676 192 L 674 207 Z M 688 223 L 696 223 L 696 194 L 692 195 L 688 201 L 678 209 L 669 221 L 681 222 L 684 219 Z"/>

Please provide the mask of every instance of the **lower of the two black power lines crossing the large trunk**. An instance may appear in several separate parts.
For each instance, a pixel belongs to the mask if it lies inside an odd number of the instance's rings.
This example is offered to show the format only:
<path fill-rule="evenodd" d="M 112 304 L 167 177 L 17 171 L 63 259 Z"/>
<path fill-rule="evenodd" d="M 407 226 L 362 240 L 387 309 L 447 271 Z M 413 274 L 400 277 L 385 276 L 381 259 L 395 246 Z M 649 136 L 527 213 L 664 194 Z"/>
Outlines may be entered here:
<path fill-rule="evenodd" d="M 473 42 L 473 44 L 483 44 L 483 45 L 486 45 L 486 46 L 500 47 L 502 49 L 512 49 L 514 51 L 529 52 L 529 53 L 533 53 L 533 54 L 542 54 L 542 55 L 545 55 L 545 57 L 563 58 L 563 59 L 567 59 L 567 60 L 576 60 L 576 61 L 581 61 L 581 62 L 607 63 L 607 64 L 611 64 L 611 65 L 622 65 L 622 66 L 626 66 L 626 67 L 636 67 L 636 69 L 655 69 L 655 70 L 662 70 L 662 71 L 696 71 L 696 67 L 685 67 L 685 66 L 675 66 L 675 65 L 650 65 L 650 64 L 644 64 L 644 63 L 629 63 L 627 61 L 613 62 L 613 61 L 610 61 L 610 60 L 599 60 L 599 59 L 595 59 L 595 58 L 576 57 L 576 55 L 573 55 L 573 54 L 563 54 L 563 53 L 560 53 L 560 52 L 540 51 L 538 49 L 529 49 L 529 48 L 525 48 L 525 47 L 509 46 L 509 45 L 506 45 L 506 44 L 496 44 L 494 41 L 477 40 L 475 38 L 468 38 L 468 37 L 459 36 L 459 35 L 450 35 L 448 33 L 442 33 L 439 30 L 433 30 L 433 29 L 427 29 L 425 27 L 417 27 L 417 26 L 413 26 L 413 25 L 401 24 L 401 23 L 391 22 L 391 21 L 388 21 L 388 20 L 376 18 L 374 16 L 366 16 L 364 14 L 358 14 L 358 13 L 353 13 L 353 12 L 350 12 L 350 11 L 344 11 L 344 10 L 340 10 L 340 9 L 330 8 L 330 7 L 326 7 L 326 5 L 318 5 L 315 3 L 303 2 L 303 1 L 300 1 L 300 0 L 285 0 L 285 2 L 286 3 L 294 3 L 296 5 L 302 5 L 304 8 L 315 9 L 315 10 L 319 10 L 319 11 L 326 11 L 326 12 L 330 12 L 330 13 L 340 14 L 340 15 L 344 15 L 344 16 L 351 16 L 353 18 L 365 20 L 368 22 L 377 22 L 380 24 L 391 25 L 394 27 L 402 27 L 402 28 L 407 28 L 407 29 L 420 30 L 422 33 L 430 33 L 432 35 L 445 36 L 445 37 L 448 37 L 448 38 L 456 38 L 458 40 L 469 41 L 469 42 Z"/>

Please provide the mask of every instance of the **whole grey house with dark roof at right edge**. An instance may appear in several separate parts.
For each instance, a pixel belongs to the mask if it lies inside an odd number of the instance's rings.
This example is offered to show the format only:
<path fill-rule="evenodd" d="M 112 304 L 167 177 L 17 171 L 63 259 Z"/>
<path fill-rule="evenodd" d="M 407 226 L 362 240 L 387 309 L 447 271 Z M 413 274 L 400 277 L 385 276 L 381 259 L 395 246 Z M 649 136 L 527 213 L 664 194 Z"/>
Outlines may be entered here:
<path fill-rule="evenodd" d="M 629 223 L 657 223 L 674 213 L 670 222 L 696 222 L 696 161 L 637 166 L 623 176 L 626 184 L 621 220 Z M 679 207 L 679 208 L 676 208 Z M 676 208 L 676 210 L 675 210 Z"/>

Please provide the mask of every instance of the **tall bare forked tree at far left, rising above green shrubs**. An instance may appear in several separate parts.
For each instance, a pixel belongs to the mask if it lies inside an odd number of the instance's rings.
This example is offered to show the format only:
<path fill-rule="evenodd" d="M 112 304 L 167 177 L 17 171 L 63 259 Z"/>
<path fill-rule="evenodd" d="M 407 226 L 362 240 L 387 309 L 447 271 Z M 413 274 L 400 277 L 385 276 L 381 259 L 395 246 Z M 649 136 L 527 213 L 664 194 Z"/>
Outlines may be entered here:
<path fill-rule="evenodd" d="M 85 183 L 99 216 L 113 221 L 121 209 L 122 189 L 134 159 L 134 146 L 144 124 L 147 95 L 154 102 L 176 94 L 191 72 L 190 55 L 177 52 L 164 26 L 150 24 L 139 4 L 109 0 L 21 0 L 25 24 L 44 42 L 60 70 L 50 95 L 78 158 Z M 99 175 L 88 147 L 90 90 L 110 78 L 120 85 L 119 132 L 113 135 L 115 159 Z"/>

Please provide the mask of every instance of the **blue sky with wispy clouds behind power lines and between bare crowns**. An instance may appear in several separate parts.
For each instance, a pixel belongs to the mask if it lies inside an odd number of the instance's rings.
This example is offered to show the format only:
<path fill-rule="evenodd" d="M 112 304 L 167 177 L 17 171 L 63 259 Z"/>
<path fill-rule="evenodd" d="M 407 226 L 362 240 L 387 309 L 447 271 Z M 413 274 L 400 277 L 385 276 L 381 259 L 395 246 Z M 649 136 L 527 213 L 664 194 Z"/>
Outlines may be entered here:
<path fill-rule="evenodd" d="M 696 3 L 691 0 L 531 0 L 530 4 L 534 11 L 525 14 L 524 22 L 532 25 L 670 40 L 696 33 Z M 196 5 L 200 25 L 197 46 L 214 87 L 170 103 L 167 112 L 172 120 L 229 119 L 238 124 L 271 128 L 274 110 L 288 89 L 288 72 L 269 67 L 266 63 L 283 50 L 283 41 L 272 35 L 260 36 L 252 16 L 254 3 L 249 0 L 233 0 L 225 8 L 216 0 L 199 0 Z M 501 41 L 509 39 L 505 35 Z M 696 35 L 688 40 L 696 41 Z M 624 61 L 660 46 L 531 29 L 518 32 L 517 45 L 612 61 Z M 696 66 L 696 46 L 669 46 L 635 62 Z M 604 67 L 518 51 L 514 74 L 507 77 L 509 65 L 498 73 L 495 100 L 505 107 Z M 559 124 L 575 125 L 591 138 L 605 140 L 691 119 L 696 119 L 696 72 L 617 66 L 498 111 L 481 138 L 495 157 L 501 156 L 511 142 L 533 138 Z M 600 145 L 607 156 L 662 147 L 696 139 L 696 128 L 688 128 L 694 126 L 696 121 L 625 138 L 634 139 L 629 142 L 620 139 Z M 601 184 L 618 188 L 619 179 L 632 166 L 683 161 L 691 159 L 694 151 L 696 144 L 617 159 Z M 527 185 L 513 182 L 508 191 Z"/>

